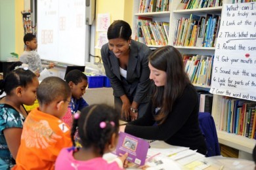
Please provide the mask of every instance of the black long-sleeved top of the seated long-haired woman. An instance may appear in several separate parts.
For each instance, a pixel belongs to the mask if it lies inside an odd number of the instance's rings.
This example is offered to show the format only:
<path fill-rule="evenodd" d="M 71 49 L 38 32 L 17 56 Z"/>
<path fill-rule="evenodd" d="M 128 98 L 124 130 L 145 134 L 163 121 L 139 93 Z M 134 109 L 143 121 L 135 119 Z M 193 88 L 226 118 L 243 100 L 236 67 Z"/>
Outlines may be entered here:
<path fill-rule="evenodd" d="M 190 147 L 192 150 L 198 149 L 201 154 L 206 154 L 205 139 L 198 124 L 199 101 L 194 86 L 186 86 L 163 124 L 153 126 L 156 115 L 154 110 L 155 108 L 148 109 L 142 118 L 129 122 L 125 133 L 143 139 Z"/>

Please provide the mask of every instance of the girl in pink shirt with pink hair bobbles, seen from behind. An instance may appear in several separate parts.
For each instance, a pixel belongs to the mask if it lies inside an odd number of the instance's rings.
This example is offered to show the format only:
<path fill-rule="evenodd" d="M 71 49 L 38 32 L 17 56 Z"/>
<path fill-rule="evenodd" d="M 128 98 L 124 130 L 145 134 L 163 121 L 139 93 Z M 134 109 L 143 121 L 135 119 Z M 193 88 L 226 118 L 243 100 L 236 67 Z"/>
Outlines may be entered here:
<path fill-rule="evenodd" d="M 123 169 L 128 154 L 112 163 L 103 160 L 103 154 L 116 148 L 119 116 L 108 105 L 91 105 L 74 114 L 72 141 L 78 127 L 81 148 L 63 148 L 56 160 L 55 169 Z"/>

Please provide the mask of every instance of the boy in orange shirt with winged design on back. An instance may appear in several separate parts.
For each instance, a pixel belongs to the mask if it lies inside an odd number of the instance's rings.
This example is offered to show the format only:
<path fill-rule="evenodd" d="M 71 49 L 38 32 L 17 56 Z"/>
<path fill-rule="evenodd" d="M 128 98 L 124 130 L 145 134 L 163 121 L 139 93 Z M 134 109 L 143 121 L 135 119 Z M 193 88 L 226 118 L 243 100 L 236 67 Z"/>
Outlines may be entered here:
<path fill-rule="evenodd" d="M 54 169 L 60 150 L 72 146 L 70 129 L 60 120 L 70 98 L 70 87 L 61 78 L 52 76 L 41 82 L 37 88 L 39 108 L 24 122 L 14 169 Z"/>

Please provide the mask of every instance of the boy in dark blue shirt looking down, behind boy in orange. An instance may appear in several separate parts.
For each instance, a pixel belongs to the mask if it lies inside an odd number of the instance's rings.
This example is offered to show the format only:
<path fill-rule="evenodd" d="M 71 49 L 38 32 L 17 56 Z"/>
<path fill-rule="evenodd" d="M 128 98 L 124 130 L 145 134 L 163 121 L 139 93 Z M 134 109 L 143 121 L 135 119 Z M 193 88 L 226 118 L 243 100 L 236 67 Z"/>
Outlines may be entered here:
<path fill-rule="evenodd" d="M 72 99 L 69 105 L 68 112 L 62 118 L 62 121 L 72 127 L 73 114 L 75 112 L 80 112 L 81 109 L 88 106 L 88 103 L 83 99 L 83 94 L 88 86 L 87 76 L 75 69 L 70 71 L 66 77 L 66 82 L 70 86 L 72 92 Z"/>

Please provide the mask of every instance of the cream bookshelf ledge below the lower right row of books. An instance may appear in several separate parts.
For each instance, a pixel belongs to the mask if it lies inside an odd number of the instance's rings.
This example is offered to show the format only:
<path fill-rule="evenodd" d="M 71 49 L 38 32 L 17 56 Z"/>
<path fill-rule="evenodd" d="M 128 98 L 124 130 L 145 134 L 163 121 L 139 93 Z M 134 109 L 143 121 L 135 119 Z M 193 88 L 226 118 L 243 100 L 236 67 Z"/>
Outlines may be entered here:
<path fill-rule="evenodd" d="M 244 152 L 252 153 L 253 148 L 256 144 L 255 139 L 249 139 L 244 136 L 236 135 L 234 133 L 227 133 L 226 131 L 217 130 L 219 143 Z"/>

